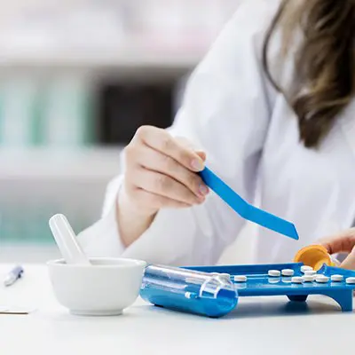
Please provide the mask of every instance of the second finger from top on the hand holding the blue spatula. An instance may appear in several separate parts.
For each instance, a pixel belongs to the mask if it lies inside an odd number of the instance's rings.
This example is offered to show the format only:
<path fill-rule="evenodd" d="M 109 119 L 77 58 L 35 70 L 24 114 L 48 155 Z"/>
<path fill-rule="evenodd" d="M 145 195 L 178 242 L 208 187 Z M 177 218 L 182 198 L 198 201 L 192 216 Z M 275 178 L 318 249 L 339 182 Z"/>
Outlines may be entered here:
<path fill-rule="evenodd" d="M 172 177 L 198 197 L 204 197 L 209 193 L 209 188 L 196 173 L 186 169 L 170 156 L 161 154 L 148 146 L 140 150 L 137 162 L 146 170 Z"/>

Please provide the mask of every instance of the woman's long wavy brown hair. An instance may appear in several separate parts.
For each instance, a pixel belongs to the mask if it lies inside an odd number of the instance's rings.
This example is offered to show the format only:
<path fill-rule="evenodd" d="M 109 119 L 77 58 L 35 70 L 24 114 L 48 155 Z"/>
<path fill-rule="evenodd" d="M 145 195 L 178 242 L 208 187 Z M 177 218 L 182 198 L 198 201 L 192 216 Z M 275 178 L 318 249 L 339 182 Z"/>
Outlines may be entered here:
<path fill-rule="evenodd" d="M 267 58 L 279 27 L 284 35 L 296 28 L 303 35 L 290 97 L 272 78 Z M 264 41 L 263 64 L 273 86 L 288 97 L 304 146 L 319 146 L 355 93 L 355 0 L 283 0 Z"/>

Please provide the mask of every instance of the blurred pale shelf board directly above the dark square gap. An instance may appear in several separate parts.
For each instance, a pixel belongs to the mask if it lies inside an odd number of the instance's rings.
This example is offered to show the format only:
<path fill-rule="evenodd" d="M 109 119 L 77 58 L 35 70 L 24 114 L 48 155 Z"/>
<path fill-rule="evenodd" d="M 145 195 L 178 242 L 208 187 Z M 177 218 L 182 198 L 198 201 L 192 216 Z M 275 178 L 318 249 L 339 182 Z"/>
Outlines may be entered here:
<path fill-rule="evenodd" d="M 1 43 L 0 43 L 1 48 Z M 9 68 L 79 68 L 93 69 L 126 69 L 141 71 L 143 69 L 164 69 L 166 71 L 191 70 L 201 60 L 207 45 L 191 48 L 188 44 L 181 48 L 154 49 L 141 43 L 134 45 L 117 45 L 111 49 L 2 49 L 0 54 L 0 70 Z"/>

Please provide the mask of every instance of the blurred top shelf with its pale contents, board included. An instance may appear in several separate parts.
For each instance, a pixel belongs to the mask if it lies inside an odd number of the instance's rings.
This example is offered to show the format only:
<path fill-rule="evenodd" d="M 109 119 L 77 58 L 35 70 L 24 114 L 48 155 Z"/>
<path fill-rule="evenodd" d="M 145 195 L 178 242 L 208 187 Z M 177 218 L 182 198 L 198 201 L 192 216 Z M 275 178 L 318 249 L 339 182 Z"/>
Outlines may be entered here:
<path fill-rule="evenodd" d="M 241 0 L 4 0 L 0 69 L 191 70 Z"/>

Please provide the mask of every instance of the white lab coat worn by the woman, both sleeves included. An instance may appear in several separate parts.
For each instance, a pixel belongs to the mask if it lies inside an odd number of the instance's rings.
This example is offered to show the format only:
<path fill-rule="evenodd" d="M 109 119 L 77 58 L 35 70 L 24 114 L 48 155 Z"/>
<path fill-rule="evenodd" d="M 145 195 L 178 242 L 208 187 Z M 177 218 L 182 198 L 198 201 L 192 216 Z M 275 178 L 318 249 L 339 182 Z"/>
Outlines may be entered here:
<path fill-rule="evenodd" d="M 246 200 L 296 224 L 300 241 L 259 229 L 256 262 L 289 262 L 299 248 L 352 225 L 355 217 L 355 104 L 318 151 L 299 139 L 296 116 L 273 90 L 261 64 L 266 29 L 280 0 L 246 0 L 194 71 L 172 134 L 190 138 L 207 164 Z M 280 36 L 269 53 L 281 83 Z M 108 185 L 103 217 L 79 235 L 91 256 L 124 256 L 161 264 L 216 264 L 245 221 L 214 193 L 201 206 L 162 209 L 138 241 L 123 248 L 115 201 L 123 177 Z M 256 189 L 257 187 L 257 189 Z"/>

